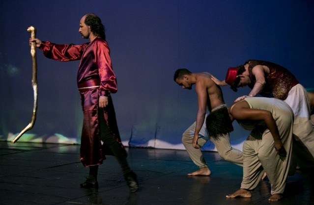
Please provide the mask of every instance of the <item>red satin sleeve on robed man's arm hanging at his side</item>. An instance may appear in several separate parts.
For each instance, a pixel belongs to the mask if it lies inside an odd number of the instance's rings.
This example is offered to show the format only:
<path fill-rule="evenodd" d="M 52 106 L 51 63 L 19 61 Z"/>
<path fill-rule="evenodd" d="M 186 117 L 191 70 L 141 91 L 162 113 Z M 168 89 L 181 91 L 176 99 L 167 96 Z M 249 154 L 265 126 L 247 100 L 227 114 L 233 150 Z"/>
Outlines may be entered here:
<path fill-rule="evenodd" d="M 100 77 L 99 95 L 109 96 L 110 93 L 116 93 L 118 88 L 108 44 L 105 41 L 96 40 L 93 52 Z"/>

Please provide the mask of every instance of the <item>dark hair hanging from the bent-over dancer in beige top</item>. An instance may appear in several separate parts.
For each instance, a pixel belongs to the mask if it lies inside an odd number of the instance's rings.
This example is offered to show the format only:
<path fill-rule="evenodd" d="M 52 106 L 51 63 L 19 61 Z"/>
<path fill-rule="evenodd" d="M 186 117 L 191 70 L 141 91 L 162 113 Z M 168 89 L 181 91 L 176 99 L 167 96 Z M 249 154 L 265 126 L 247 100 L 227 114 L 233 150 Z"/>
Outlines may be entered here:
<path fill-rule="evenodd" d="M 214 110 L 206 117 L 206 130 L 208 136 L 216 140 L 233 131 L 227 107 Z"/>

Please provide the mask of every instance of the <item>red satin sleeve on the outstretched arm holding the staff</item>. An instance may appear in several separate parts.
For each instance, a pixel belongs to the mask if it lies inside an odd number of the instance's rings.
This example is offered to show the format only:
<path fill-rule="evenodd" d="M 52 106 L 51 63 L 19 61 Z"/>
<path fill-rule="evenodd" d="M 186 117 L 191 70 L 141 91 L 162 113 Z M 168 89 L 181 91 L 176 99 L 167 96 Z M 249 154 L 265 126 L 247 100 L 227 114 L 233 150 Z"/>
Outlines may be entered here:
<path fill-rule="evenodd" d="M 42 42 L 39 49 L 44 52 L 47 58 L 58 61 L 80 60 L 84 45 L 54 44 L 49 41 Z"/>

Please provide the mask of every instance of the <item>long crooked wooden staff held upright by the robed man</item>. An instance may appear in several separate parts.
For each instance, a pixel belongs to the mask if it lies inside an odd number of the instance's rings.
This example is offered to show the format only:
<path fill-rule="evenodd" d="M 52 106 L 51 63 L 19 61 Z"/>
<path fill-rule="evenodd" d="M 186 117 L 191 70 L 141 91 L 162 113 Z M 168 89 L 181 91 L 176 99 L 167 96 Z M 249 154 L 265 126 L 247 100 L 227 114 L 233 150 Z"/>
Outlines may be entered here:
<path fill-rule="evenodd" d="M 29 26 L 27 29 L 30 32 L 30 38 L 36 38 L 36 28 L 33 26 Z M 32 42 L 30 45 L 30 55 L 32 61 L 32 77 L 31 77 L 31 85 L 34 90 L 34 106 L 33 113 L 31 116 L 31 120 L 28 126 L 26 126 L 13 140 L 12 143 L 15 143 L 26 131 L 33 128 L 36 121 L 36 113 L 37 113 L 37 100 L 38 100 L 38 88 L 37 88 L 37 58 L 36 58 L 36 42 Z"/>

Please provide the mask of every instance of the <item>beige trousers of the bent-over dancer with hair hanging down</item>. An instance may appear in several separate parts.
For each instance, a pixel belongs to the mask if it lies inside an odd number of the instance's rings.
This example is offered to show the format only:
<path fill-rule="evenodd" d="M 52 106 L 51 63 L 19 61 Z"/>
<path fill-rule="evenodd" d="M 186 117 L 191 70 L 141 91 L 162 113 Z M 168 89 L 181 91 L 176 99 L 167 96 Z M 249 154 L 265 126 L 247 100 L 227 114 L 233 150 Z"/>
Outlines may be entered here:
<path fill-rule="evenodd" d="M 271 183 L 271 194 L 284 193 L 292 153 L 292 118 L 287 115 L 276 123 L 287 152 L 286 157 L 277 154 L 274 138 L 268 129 L 264 132 L 258 128 L 253 129 L 243 144 L 242 189 L 254 190 L 266 172 Z"/>

